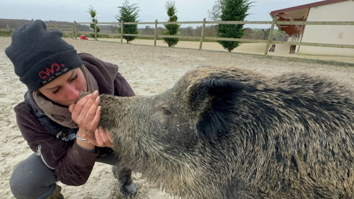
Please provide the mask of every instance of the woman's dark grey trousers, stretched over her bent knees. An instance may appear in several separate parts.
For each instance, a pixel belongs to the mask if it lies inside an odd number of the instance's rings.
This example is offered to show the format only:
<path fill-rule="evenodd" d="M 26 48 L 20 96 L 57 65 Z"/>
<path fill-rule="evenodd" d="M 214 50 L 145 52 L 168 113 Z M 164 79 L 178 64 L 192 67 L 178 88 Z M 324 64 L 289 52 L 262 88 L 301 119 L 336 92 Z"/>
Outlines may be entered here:
<path fill-rule="evenodd" d="M 119 157 L 113 152 L 108 152 L 103 156 L 98 157 L 96 162 L 116 165 L 119 161 Z M 57 181 L 53 170 L 43 164 L 40 157 L 33 153 L 13 170 L 10 188 L 17 199 L 42 199 L 47 198 L 54 191 Z"/>

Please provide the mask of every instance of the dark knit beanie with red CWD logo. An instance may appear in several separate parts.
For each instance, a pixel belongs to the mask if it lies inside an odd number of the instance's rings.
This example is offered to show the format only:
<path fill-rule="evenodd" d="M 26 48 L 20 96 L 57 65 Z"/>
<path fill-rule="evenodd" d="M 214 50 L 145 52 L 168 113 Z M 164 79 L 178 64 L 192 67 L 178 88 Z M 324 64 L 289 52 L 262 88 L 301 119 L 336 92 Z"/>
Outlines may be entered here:
<path fill-rule="evenodd" d="M 58 76 L 82 65 L 74 46 L 61 39 L 59 30 L 47 30 L 36 20 L 17 27 L 5 50 L 15 73 L 28 89 L 36 91 Z"/>

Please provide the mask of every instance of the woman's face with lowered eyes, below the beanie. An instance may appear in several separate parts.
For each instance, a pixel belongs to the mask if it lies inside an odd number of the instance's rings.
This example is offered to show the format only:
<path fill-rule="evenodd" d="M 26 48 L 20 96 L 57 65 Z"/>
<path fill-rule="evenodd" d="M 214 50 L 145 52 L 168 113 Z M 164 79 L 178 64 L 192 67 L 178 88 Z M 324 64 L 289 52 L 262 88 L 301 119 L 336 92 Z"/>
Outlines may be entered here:
<path fill-rule="evenodd" d="M 69 70 L 39 89 L 44 96 L 64 106 L 75 103 L 86 91 L 86 79 L 80 67 Z"/>

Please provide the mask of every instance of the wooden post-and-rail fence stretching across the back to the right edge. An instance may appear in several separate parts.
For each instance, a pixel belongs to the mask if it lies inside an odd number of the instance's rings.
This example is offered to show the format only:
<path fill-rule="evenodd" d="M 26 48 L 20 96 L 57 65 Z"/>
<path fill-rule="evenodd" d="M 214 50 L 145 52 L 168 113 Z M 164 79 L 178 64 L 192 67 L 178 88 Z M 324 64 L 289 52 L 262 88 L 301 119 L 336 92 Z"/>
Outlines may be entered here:
<path fill-rule="evenodd" d="M 296 42 L 296 41 L 275 41 L 272 40 L 273 30 L 275 25 L 354 25 L 354 21 L 351 22 L 304 22 L 304 21 L 277 21 L 274 17 L 273 21 L 187 21 L 187 22 L 76 22 L 74 21 L 73 35 L 76 39 L 76 24 L 95 24 L 95 39 L 97 40 L 97 24 L 118 24 L 121 25 L 120 42 L 123 42 L 123 36 L 140 36 L 154 38 L 154 46 L 156 46 L 157 38 L 179 38 L 179 39 L 198 39 L 200 40 L 199 49 L 202 49 L 203 40 L 218 40 L 218 41 L 239 41 L 239 42 L 250 42 L 250 43 L 266 43 L 264 49 L 264 55 L 267 55 L 270 43 L 273 44 L 290 44 L 290 45 L 303 45 L 303 46 L 320 46 L 320 47 L 336 47 L 336 48 L 350 48 L 354 49 L 354 45 L 344 45 L 344 44 L 323 44 L 323 43 L 310 43 L 310 42 Z M 123 34 L 124 24 L 155 24 L 155 34 L 145 35 L 145 34 Z M 157 35 L 157 25 L 158 24 L 202 24 L 202 31 L 200 36 L 177 36 L 177 35 Z M 204 36 L 205 24 L 271 24 L 270 31 L 267 40 L 262 39 L 238 39 L 238 38 L 219 38 L 219 37 L 206 37 Z"/>

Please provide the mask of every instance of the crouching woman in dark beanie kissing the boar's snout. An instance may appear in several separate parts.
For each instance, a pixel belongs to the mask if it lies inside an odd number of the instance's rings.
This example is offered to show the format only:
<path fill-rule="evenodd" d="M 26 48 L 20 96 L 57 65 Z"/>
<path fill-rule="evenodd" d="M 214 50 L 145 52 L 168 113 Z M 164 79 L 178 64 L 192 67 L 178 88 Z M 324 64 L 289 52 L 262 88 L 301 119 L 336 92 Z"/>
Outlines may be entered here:
<path fill-rule="evenodd" d="M 95 161 L 110 165 L 119 161 L 110 149 L 109 133 L 98 126 L 98 95 L 135 94 L 117 66 L 78 54 L 61 36 L 36 20 L 16 28 L 5 50 L 28 87 L 14 110 L 21 133 L 35 152 L 13 171 L 10 187 L 16 198 L 63 198 L 57 181 L 79 186 L 89 178 Z M 84 92 L 92 94 L 77 101 Z M 135 195 L 131 171 L 114 171 L 121 191 Z"/>

